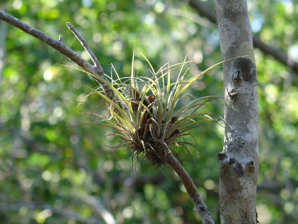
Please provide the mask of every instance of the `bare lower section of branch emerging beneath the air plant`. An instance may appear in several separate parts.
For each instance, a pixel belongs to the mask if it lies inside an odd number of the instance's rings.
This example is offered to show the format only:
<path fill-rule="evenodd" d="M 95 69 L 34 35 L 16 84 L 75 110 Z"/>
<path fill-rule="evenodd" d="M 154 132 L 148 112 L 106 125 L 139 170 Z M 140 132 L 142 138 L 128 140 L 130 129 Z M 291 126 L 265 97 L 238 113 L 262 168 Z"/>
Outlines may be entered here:
<path fill-rule="evenodd" d="M 181 178 L 181 181 L 187 191 L 187 194 L 190 196 L 191 201 L 195 205 L 194 211 L 198 214 L 204 224 L 214 224 L 214 221 L 211 217 L 207 205 L 205 205 L 202 200 L 197 187 L 195 186 L 193 180 L 187 173 L 187 171 L 180 164 L 178 159 L 174 157 L 173 154 L 167 155 L 167 163 L 175 170 L 176 174 Z"/>

